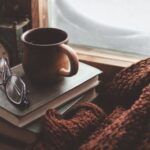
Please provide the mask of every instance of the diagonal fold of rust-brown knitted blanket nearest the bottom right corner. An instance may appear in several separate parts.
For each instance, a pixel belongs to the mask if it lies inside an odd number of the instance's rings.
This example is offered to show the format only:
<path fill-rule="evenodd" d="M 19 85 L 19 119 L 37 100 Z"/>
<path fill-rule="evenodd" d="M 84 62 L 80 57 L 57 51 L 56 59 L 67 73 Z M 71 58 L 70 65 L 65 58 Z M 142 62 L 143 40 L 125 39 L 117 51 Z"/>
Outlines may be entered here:
<path fill-rule="evenodd" d="M 97 134 L 91 144 L 80 150 L 108 149 L 128 150 L 135 149 L 139 136 L 142 135 L 147 118 L 150 115 L 150 85 L 147 86 L 139 100 L 117 118 L 111 125 Z"/>

